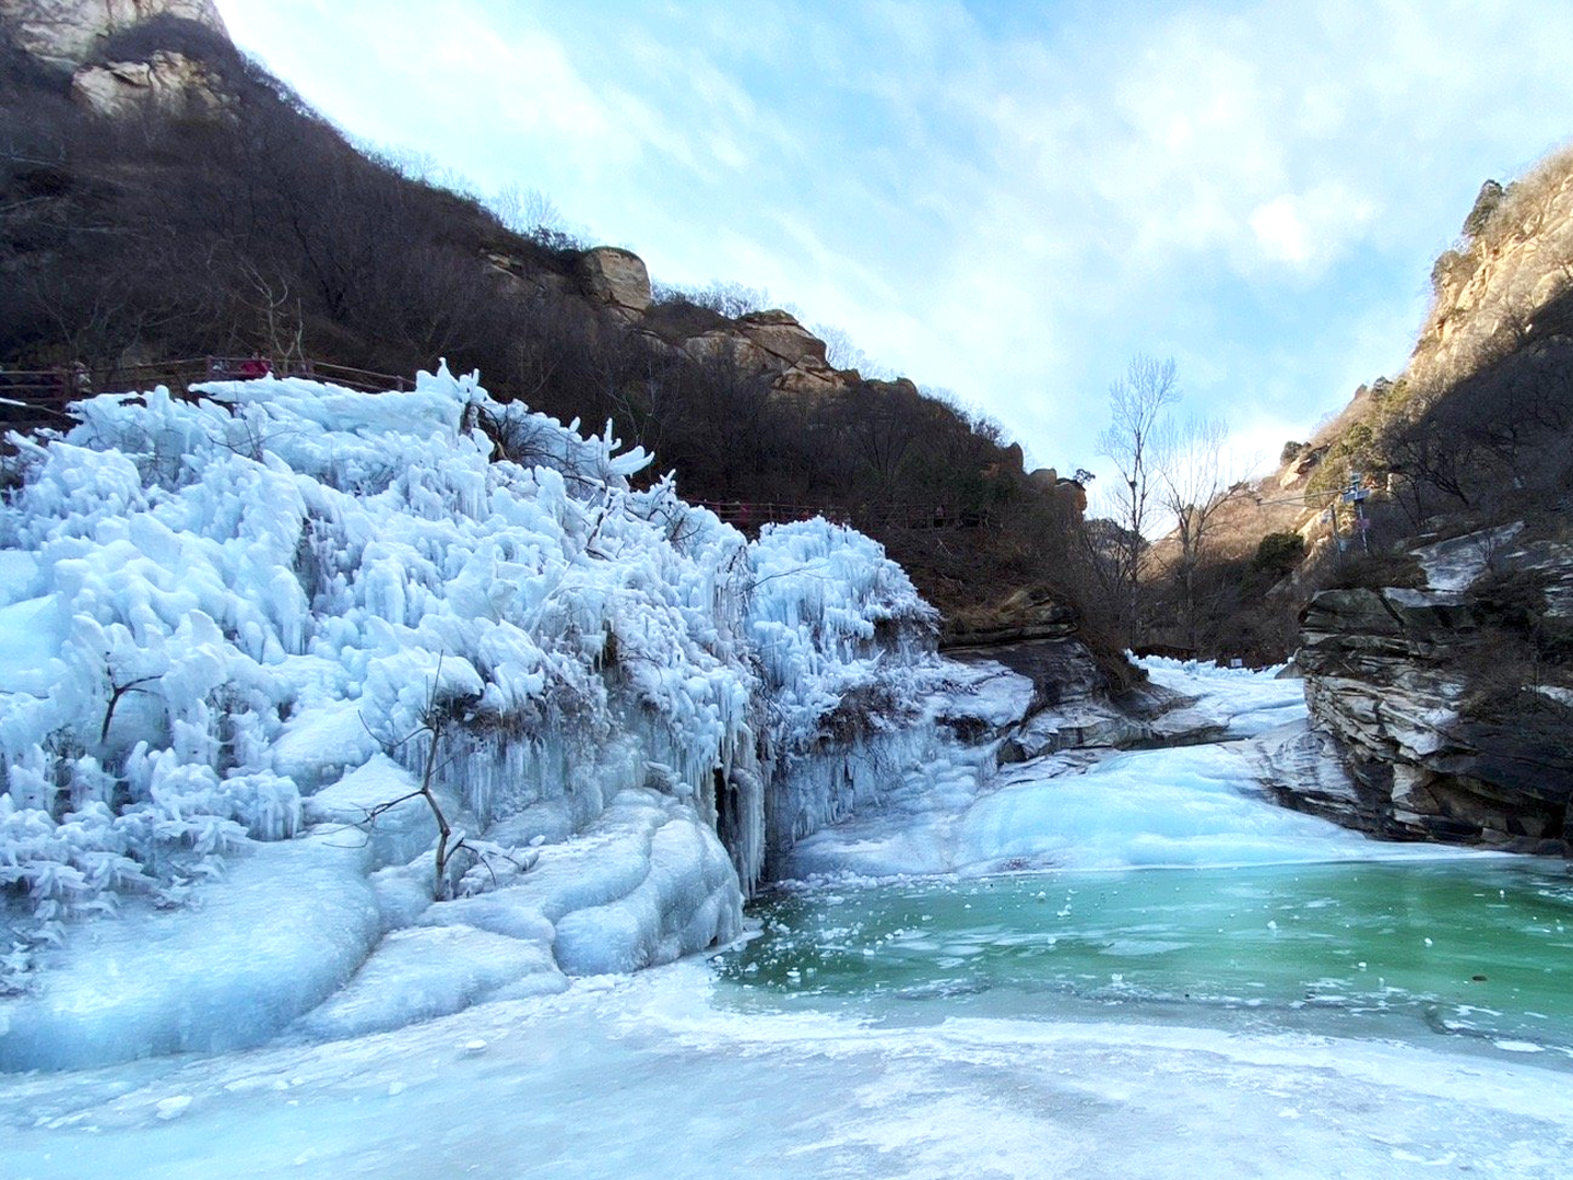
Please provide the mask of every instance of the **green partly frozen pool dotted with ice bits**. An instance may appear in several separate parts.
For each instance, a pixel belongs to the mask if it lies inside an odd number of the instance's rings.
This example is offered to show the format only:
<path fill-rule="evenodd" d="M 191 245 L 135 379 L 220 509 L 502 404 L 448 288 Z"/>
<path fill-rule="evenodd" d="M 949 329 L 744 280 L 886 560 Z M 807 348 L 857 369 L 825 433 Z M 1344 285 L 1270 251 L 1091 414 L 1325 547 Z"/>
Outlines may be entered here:
<path fill-rule="evenodd" d="M 1251 1020 L 1573 1056 L 1560 864 L 1169 868 L 780 894 L 720 957 L 739 1002 Z M 915 1007 L 909 1005 L 915 1015 Z M 939 1015 L 942 1015 L 939 1013 Z"/>

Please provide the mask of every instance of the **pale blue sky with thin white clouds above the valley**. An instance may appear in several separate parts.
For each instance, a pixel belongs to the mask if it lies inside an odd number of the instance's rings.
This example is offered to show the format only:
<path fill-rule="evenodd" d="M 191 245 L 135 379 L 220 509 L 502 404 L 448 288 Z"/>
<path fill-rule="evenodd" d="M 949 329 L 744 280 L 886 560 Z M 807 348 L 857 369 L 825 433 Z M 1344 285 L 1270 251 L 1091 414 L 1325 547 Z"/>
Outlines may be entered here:
<path fill-rule="evenodd" d="M 766 288 L 1106 464 L 1107 385 L 1276 458 L 1395 373 L 1486 176 L 1573 134 L 1573 5 L 219 0 L 351 134 Z"/>

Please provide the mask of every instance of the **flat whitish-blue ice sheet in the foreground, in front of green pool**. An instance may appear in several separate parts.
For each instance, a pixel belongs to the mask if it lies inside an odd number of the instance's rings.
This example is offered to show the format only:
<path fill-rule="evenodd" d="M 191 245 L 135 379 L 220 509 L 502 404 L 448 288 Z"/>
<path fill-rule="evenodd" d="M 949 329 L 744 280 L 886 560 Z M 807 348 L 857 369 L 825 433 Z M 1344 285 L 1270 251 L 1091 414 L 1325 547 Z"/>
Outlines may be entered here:
<path fill-rule="evenodd" d="M 1315 1032 L 741 1010 L 702 963 L 0 1087 L 16 1180 L 1553 1180 L 1567 1075 Z"/>

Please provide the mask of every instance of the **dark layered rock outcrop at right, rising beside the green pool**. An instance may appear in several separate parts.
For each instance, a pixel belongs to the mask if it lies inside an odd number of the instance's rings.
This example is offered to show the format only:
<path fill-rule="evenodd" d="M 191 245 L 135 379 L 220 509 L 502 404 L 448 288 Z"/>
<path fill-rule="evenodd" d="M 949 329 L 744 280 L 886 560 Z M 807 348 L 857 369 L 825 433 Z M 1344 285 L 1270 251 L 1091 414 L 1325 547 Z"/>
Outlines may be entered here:
<path fill-rule="evenodd" d="M 1573 691 L 1556 653 L 1573 551 L 1526 546 L 1463 573 L 1419 554 L 1424 588 L 1326 590 L 1306 609 L 1312 724 L 1353 790 L 1288 780 L 1279 795 L 1389 839 L 1567 854 Z"/>

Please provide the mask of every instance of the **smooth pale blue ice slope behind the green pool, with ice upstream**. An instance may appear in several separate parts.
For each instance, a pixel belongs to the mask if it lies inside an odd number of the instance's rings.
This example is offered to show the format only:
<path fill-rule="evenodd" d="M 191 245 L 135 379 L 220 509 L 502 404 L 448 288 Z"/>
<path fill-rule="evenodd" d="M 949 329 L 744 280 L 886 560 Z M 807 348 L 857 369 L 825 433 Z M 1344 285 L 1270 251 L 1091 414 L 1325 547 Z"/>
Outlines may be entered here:
<path fill-rule="evenodd" d="M 1170 659 L 1144 666 L 1155 683 L 1194 699 L 1189 711 L 1199 724 L 1235 741 L 1107 754 L 1090 763 L 1078 750 L 997 774 L 958 750 L 909 773 L 878 807 L 801 840 L 790 873 L 972 876 L 1449 854 L 1431 845 L 1375 843 L 1255 791 L 1255 752 L 1244 739 L 1304 724 L 1299 680 Z"/>

